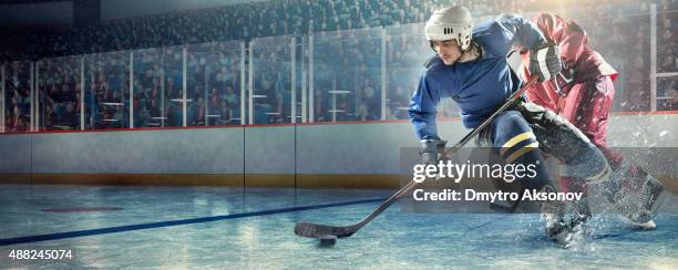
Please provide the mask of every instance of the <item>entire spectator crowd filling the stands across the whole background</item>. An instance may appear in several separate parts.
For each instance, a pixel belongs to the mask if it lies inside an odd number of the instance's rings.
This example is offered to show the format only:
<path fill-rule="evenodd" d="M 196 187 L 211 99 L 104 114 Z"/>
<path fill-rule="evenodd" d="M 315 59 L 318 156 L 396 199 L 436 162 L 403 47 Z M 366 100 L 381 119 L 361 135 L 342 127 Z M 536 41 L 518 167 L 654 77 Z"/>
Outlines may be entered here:
<path fill-rule="evenodd" d="M 86 128 L 182 126 L 184 104 L 189 126 L 228 125 L 239 124 L 242 118 L 243 66 L 240 51 L 225 45 L 227 41 L 312 33 L 317 40 L 312 55 L 315 77 L 309 80 L 315 86 L 311 106 L 315 121 L 379 120 L 382 53 L 387 54 L 386 117 L 403 120 L 421 63 L 431 52 L 422 42 L 421 29 L 389 33 L 387 51 L 381 52 L 379 37 L 370 32 L 374 28 L 402 25 L 405 29 L 405 24 L 421 23 L 434 9 L 450 4 L 464 4 L 474 15 L 487 18 L 551 10 L 563 11 L 577 21 L 588 32 L 590 45 L 620 71 L 615 110 L 648 111 L 650 3 L 657 4 L 658 12 L 657 72 L 676 72 L 678 1 L 675 0 L 577 0 L 567 2 L 568 12 L 557 1 L 544 0 L 276 0 L 104 21 L 82 28 L 12 28 L 3 33 L 0 61 L 86 54 Z M 301 71 L 291 77 L 290 49 L 286 42 L 254 53 L 257 124 L 290 122 L 289 89 L 292 80 L 301 84 Z M 186 44 L 192 45 L 186 56 L 188 91 L 184 98 L 179 45 Z M 132 50 L 134 62 L 129 63 Z M 300 54 L 297 54 L 297 64 L 302 59 Z M 49 104 L 40 110 L 40 123 L 45 128 L 79 126 L 80 117 L 75 117 L 82 111 L 81 79 L 75 75 L 79 65 L 61 66 L 49 68 L 41 77 L 44 92 L 41 101 Z M 129 108 L 130 66 L 134 73 L 133 112 Z M 17 74 L 8 74 L 6 80 L 9 102 L 6 123 L 13 123 L 20 129 L 27 125 L 25 115 L 30 122 L 30 111 L 25 110 L 25 104 L 30 104 L 25 103 L 30 87 L 23 83 L 29 81 L 25 71 L 19 76 L 23 79 L 14 80 Z M 675 82 L 667 80 L 658 84 L 661 101 L 669 100 Z M 297 96 L 297 103 L 300 100 Z M 444 115 L 456 112 L 453 105 L 445 107 L 441 111 Z M 130 113 L 134 114 L 134 123 L 127 123 Z"/>

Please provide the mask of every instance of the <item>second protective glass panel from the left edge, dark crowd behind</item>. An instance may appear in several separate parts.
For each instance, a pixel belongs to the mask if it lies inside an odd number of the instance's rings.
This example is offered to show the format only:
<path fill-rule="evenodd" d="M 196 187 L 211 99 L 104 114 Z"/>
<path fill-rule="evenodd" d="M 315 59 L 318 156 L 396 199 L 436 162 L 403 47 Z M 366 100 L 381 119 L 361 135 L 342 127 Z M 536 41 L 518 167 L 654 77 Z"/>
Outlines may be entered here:
<path fill-rule="evenodd" d="M 80 56 L 53 58 L 38 65 L 40 131 L 80 129 Z"/>

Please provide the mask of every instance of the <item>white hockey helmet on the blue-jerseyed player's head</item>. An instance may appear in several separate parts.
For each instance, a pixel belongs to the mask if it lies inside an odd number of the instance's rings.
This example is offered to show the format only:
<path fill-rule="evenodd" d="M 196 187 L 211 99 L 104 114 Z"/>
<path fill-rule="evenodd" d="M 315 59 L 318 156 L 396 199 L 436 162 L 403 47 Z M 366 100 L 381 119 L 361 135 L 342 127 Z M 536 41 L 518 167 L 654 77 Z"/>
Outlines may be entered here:
<path fill-rule="evenodd" d="M 456 40 L 462 51 L 471 46 L 473 18 L 471 12 L 462 7 L 442 8 L 433 12 L 424 28 L 427 40 Z"/>

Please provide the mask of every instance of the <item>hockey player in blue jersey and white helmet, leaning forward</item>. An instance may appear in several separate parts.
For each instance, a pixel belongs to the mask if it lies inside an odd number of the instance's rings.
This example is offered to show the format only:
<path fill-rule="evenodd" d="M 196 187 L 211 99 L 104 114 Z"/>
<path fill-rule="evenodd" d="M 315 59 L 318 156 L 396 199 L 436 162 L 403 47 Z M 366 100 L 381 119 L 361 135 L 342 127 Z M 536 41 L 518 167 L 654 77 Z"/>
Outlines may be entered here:
<path fill-rule="evenodd" d="M 557 45 L 548 43 L 530 20 L 520 17 L 502 15 L 474 28 L 468 9 L 443 8 L 427 22 L 425 35 L 435 56 L 425 63 L 409 108 L 425 163 L 436 163 L 445 145 L 435 124 L 436 105 L 442 98 L 454 100 L 463 125 L 474 128 L 520 87 L 506 60 L 513 45 L 534 52 L 530 70 L 540 82 L 561 71 Z M 576 127 L 524 101 L 497 115 L 479 137 L 479 142 L 486 142 L 481 146 L 495 147 L 505 163 L 537 165 L 538 177 L 520 179 L 525 189 L 557 191 L 537 148 L 567 165 L 566 174 L 592 183 L 605 180 L 609 172 L 603 154 Z M 562 247 L 572 245 L 590 217 L 585 200 L 543 201 L 542 215 L 546 235 Z"/>

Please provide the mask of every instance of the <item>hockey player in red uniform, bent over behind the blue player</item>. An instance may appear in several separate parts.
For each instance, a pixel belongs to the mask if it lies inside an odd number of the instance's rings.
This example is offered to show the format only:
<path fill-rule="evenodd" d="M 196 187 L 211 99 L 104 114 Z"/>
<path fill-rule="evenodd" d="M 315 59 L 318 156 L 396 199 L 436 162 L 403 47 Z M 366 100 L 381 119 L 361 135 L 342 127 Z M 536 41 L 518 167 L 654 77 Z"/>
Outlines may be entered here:
<path fill-rule="evenodd" d="M 537 14 L 532 22 L 547 40 L 558 44 L 563 69 L 549 81 L 528 89 L 527 98 L 569 121 L 600 148 L 615 172 L 613 178 L 616 178 L 605 186 L 608 199 L 631 222 L 644 229 L 654 229 L 653 217 L 659 205 L 656 200 L 664 190 L 662 185 L 607 147 L 608 114 L 615 96 L 613 82 L 617 71 L 587 45 L 586 32 L 575 22 L 548 13 Z M 526 69 L 530 51 L 523 50 L 521 54 L 523 68 L 518 73 L 525 80 L 531 75 Z M 563 189 L 569 191 L 584 191 L 584 183 L 566 176 L 562 179 Z M 646 194 L 646 201 L 629 210 L 633 202 L 625 199 L 628 194 Z"/>

